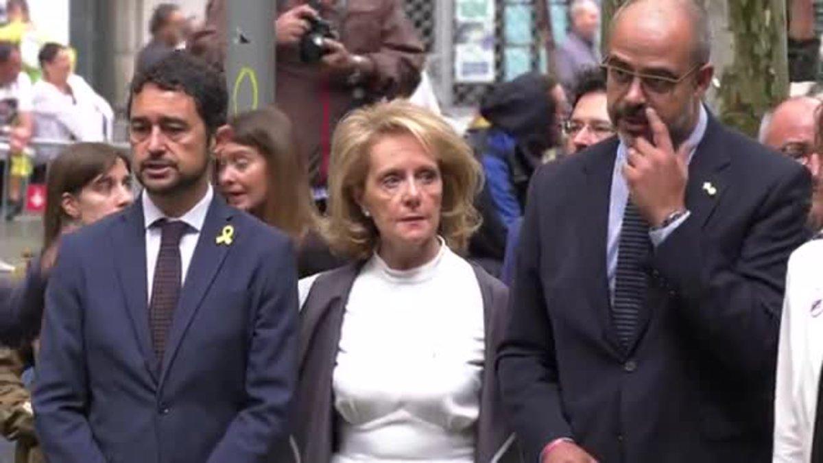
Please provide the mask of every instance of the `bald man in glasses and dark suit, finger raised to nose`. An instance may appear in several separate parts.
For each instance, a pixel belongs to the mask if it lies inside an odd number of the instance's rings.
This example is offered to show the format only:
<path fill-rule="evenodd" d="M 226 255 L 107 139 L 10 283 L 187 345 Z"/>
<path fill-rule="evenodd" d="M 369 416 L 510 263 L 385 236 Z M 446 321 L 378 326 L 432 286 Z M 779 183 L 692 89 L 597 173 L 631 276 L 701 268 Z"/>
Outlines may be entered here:
<path fill-rule="evenodd" d="M 635 0 L 617 137 L 532 180 L 497 368 L 527 461 L 766 462 L 788 255 L 811 180 L 709 115 L 708 18 Z"/>

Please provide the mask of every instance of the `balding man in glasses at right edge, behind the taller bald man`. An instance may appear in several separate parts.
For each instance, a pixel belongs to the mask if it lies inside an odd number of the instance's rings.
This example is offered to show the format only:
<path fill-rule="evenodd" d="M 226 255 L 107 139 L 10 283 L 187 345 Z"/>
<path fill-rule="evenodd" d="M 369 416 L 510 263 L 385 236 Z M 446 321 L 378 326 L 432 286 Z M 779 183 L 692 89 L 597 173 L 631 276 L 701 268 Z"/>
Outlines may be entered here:
<path fill-rule="evenodd" d="M 812 192 L 809 229 L 823 228 L 823 189 L 821 189 L 821 153 L 816 137 L 821 126 L 821 101 L 811 96 L 797 96 L 783 101 L 765 116 L 760 142 L 782 152 L 806 166 L 811 172 Z"/>

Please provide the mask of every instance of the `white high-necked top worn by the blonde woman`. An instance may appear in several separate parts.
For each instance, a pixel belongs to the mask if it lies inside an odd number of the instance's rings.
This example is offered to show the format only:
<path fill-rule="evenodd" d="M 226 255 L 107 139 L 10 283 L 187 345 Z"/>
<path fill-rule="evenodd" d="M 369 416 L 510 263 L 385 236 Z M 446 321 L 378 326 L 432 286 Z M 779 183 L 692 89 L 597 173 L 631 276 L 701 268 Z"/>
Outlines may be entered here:
<path fill-rule="evenodd" d="M 343 318 L 332 462 L 473 461 L 484 337 L 474 270 L 442 241 L 416 269 L 374 255 Z"/>

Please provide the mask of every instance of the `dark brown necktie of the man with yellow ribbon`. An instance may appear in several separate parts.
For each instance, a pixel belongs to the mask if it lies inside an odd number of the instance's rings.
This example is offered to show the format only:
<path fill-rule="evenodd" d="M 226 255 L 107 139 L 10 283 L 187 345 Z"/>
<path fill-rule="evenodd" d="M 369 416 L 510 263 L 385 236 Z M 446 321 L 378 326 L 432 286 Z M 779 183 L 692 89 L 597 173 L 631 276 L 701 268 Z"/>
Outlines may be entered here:
<path fill-rule="evenodd" d="M 180 260 L 180 238 L 188 231 L 188 224 L 160 219 L 152 227 L 160 227 L 161 230 L 160 253 L 157 255 L 149 303 L 151 344 L 160 365 L 165 353 L 166 337 L 174 320 L 174 309 L 180 297 L 183 266 Z"/>

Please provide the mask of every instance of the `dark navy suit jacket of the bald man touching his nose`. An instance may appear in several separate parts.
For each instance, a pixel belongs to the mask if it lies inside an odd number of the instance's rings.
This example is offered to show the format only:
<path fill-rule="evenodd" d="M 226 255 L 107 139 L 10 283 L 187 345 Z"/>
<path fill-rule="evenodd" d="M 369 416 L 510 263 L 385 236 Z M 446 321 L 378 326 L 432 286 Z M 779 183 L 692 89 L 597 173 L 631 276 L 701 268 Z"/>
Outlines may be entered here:
<path fill-rule="evenodd" d="M 689 166 L 690 217 L 647 263 L 625 349 L 606 267 L 616 147 L 532 180 L 497 362 L 527 461 L 558 437 L 608 463 L 771 461 L 783 280 L 807 236 L 808 172 L 710 118 Z"/>

